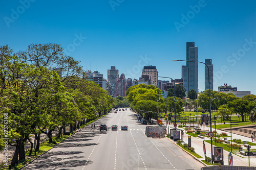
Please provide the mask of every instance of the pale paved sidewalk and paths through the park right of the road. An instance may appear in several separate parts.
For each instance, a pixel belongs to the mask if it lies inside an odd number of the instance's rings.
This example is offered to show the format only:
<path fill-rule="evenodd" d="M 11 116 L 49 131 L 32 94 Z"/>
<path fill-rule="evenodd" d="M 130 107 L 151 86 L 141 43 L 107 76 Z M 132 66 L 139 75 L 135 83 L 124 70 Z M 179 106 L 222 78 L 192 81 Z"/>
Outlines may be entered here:
<path fill-rule="evenodd" d="M 166 125 L 166 124 L 165 124 Z M 167 125 L 168 127 L 174 127 L 173 125 Z M 203 128 L 203 127 L 202 127 Z M 178 129 L 182 129 L 182 128 L 178 128 Z M 206 130 L 209 130 L 210 128 L 206 128 L 205 126 L 205 131 Z M 212 131 L 214 131 L 215 129 L 212 128 Z M 222 132 L 225 132 L 225 131 L 221 131 L 221 130 L 218 130 L 217 129 L 217 133 L 221 134 Z M 227 133 L 228 136 L 230 136 L 230 133 L 228 132 L 225 132 Z M 231 137 L 228 137 L 227 140 L 230 140 Z M 244 136 L 241 136 L 241 135 L 237 135 L 237 134 L 234 134 L 232 133 L 232 139 L 241 139 L 242 141 L 250 141 L 251 142 L 251 138 L 248 138 L 248 137 L 244 137 Z M 205 136 L 205 140 L 210 140 L 210 138 L 207 138 Z M 184 133 L 184 139 L 183 141 L 185 143 L 188 143 L 188 135 L 186 133 Z M 193 137 L 191 136 L 191 147 L 195 148 L 195 152 L 202 156 L 203 158 L 199 159 L 199 160 L 204 160 L 204 152 L 203 152 L 203 141 L 204 139 L 201 139 L 201 138 L 198 138 L 198 137 Z M 253 141 L 255 142 L 255 141 Z M 210 143 L 208 142 L 204 142 L 205 143 L 205 148 L 206 148 L 206 156 L 207 157 L 211 157 L 211 149 L 210 149 Z M 256 143 L 256 142 L 255 142 Z M 241 144 L 243 145 L 243 144 Z M 215 145 L 212 145 L 212 152 L 214 152 L 214 148 Z M 242 147 L 244 151 L 246 151 L 246 148 L 245 147 Z M 256 145 L 255 146 L 251 146 L 251 149 L 256 149 Z M 228 165 L 228 155 L 229 155 L 229 152 L 228 151 L 225 151 L 223 150 L 223 156 L 224 156 L 224 165 Z M 234 166 L 248 166 L 248 156 L 243 156 L 241 155 L 238 151 L 236 151 L 236 153 L 232 153 L 232 156 L 233 156 L 233 165 Z M 250 156 L 250 166 L 256 166 L 256 157 L 254 156 Z"/>

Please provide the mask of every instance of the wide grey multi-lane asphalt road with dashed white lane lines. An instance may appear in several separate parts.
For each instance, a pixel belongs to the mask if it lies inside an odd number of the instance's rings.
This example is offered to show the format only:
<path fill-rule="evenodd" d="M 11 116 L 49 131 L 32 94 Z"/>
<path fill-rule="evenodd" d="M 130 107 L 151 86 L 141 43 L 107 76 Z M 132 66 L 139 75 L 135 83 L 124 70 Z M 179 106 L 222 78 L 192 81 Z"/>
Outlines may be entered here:
<path fill-rule="evenodd" d="M 145 136 L 129 109 L 109 113 L 42 155 L 24 169 L 200 169 L 200 162 L 166 138 Z M 108 131 L 99 131 L 106 124 Z M 111 126 L 117 125 L 118 131 Z M 127 125 L 128 131 L 121 131 Z"/>

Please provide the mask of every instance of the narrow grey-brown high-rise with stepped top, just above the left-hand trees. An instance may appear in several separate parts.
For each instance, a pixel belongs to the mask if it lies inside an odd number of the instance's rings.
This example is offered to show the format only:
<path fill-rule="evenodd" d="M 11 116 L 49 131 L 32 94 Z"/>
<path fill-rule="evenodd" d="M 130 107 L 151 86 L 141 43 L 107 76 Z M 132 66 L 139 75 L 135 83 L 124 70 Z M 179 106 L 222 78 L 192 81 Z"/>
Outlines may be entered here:
<path fill-rule="evenodd" d="M 111 83 L 113 96 L 118 96 L 118 78 L 118 69 L 115 66 L 111 66 L 111 69 L 108 69 L 108 80 Z"/>

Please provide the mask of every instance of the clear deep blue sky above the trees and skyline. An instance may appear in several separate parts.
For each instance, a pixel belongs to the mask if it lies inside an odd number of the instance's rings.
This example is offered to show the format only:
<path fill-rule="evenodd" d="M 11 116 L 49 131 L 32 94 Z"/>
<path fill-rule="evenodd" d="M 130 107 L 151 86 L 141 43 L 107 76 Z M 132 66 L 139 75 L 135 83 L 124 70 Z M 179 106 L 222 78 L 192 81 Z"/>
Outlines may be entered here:
<path fill-rule="evenodd" d="M 186 42 L 199 61 L 212 59 L 214 90 L 227 83 L 256 94 L 256 1 L 1 1 L 0 45 L 25 51 L 32 43 L 57 43 L 84 70 L 107 78 L 138 79 L 143 65 L 159 76 L 181 78 Z M 79 38 L 77 38 L 79 37 Z M 204 65 L 199 64 L 199 91 Z"/>

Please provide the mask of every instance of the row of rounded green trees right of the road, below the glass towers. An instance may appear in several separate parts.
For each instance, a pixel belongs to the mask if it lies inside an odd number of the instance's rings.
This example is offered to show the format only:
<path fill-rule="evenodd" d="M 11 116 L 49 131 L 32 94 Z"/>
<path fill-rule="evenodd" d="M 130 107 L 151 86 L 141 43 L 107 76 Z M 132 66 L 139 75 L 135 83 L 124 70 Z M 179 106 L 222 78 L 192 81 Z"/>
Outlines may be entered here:
<path fill-rule="evenodd" d="M 174 112 L 174 94 L 176 94 L 176 113 L 182 112 L 184 110 L 183 108 L 188 108 L 190 111 L 193 108 L 196 110 L 196 91 L 193 89 L 190 90 L 188 92 L 188 97 L 190 99 L 184 100 L 186 96 L 184 87 L 180 84 L 176 84 L 175 87 L 175 93 L 174 88 L 168 89 L 167 98 L 165 100 L 162 98 L 162 95 L 160 95 L 160 89 L 158 89 L 156 86 L 145 84 L 130 87 L 126 92 L 126 96 L 127 100 L 131 104 L 131 107 L 136 110 L 140 109 L 153 112 Z M 253 94 L 238 98 L 232 93 L 226 94 L 223 92 L 210 90 L 210 100 L 211 110 L 218 110 L 217 115 L 222 116 L 223 119 L 228 119 L 229 115 L 233 113 L 241 115 L 242 122 L 244 122 L 245 116 L 250 117 L 252 122 L 256 122 L 256 96 Z M 199 94 L 198 105 L 199 109 L 203 112 L 209 110 L 208 90 Z"/>

